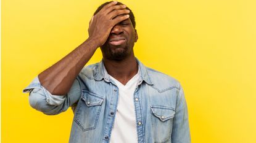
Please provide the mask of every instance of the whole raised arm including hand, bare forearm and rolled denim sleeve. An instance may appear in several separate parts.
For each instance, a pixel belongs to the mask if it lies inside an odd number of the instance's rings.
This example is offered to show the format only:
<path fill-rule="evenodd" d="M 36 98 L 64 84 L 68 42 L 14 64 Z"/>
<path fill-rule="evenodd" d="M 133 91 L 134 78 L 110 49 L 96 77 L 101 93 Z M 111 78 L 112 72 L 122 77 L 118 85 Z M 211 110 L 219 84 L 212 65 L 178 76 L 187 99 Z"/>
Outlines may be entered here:
<path fill-rule="evenodd" d="M 23 92 L 30 92 L 30 105 L 54 115 L 64 112 L 80 98 L 78 74 L 93 56 L 97 47 L 103 45 L 111 29 L 128 18 L 125 6 L 110 2 L 89 23 L 89 38 L 56 64 L 41 72 Z"/>

